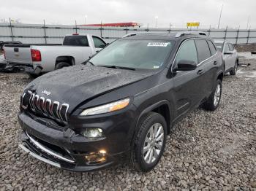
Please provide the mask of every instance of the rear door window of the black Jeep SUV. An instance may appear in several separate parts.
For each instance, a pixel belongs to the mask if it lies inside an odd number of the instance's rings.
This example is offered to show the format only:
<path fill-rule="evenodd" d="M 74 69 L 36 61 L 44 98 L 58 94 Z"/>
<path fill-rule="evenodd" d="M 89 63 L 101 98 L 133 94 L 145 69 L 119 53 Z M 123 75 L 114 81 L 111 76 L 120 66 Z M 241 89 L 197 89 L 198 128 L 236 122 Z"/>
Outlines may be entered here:
<path fill-rule="evenodd" d="M 211 52 L 206 40 L 195 39 L 195 44 L 197 46 L 199 62 L 205 61 L 207 58 L 211 57 Z"/>

